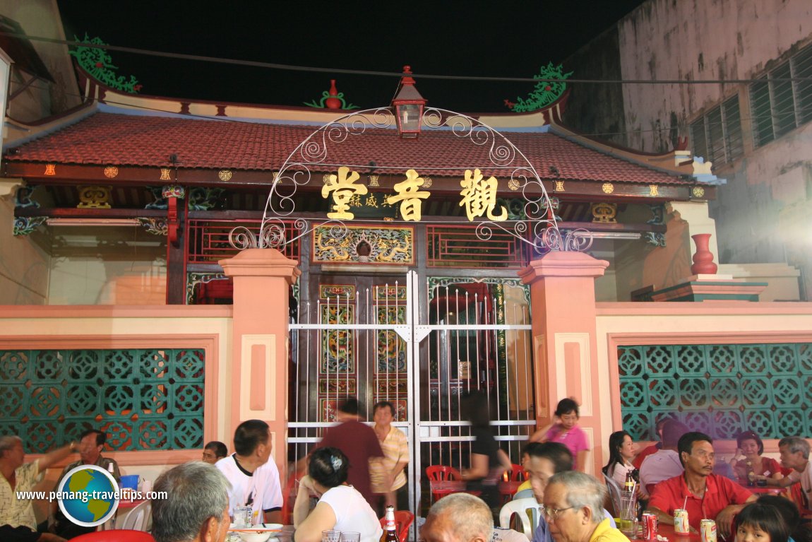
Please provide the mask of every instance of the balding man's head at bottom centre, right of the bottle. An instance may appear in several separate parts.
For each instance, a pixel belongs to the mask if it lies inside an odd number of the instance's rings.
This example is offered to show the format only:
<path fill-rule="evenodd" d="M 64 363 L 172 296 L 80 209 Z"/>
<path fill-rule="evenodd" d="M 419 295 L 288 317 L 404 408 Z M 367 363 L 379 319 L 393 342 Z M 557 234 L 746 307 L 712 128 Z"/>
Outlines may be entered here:
<path fill-rule="evenodd" d="M 425 542 L 490 542 L 493 531 L 494 517 L 485 501 L 452 493 L 431 506 L 421 534 Z"/>

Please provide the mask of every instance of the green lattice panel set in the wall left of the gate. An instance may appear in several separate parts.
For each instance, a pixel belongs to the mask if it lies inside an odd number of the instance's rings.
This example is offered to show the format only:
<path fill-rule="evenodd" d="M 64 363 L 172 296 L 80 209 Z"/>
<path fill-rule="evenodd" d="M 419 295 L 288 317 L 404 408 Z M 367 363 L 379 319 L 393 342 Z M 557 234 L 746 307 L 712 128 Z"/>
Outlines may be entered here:
<path fill-rule="evenodd" d="M 100 429 L 116 451 L 203 446 L 202 349 L 0 350 L 0 435 L 33 453 Z"/>

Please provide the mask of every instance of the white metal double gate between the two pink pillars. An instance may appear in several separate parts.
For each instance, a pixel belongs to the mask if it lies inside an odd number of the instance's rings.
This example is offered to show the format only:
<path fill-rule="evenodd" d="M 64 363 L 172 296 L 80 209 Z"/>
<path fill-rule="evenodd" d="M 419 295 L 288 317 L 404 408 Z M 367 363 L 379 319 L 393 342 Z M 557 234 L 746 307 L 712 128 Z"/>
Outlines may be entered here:
<path fill-rule="evenodd" d="M 535 426 L 529 297 L 518 279 L 314 275 L 309 303 L 291 323 L 291 459 L 304 457 L 335 422 L 343 397 L 372 419 L 395 405 L 408 436 L 412 510 L 430 504 L 425 466 L 469 466 L 464 393 L 490 398 L 497 439 L 518 461 Z M 304 285 L 303 285 L 304 287 Z M 419 474 L 419 475 L 418 475 Z"/>

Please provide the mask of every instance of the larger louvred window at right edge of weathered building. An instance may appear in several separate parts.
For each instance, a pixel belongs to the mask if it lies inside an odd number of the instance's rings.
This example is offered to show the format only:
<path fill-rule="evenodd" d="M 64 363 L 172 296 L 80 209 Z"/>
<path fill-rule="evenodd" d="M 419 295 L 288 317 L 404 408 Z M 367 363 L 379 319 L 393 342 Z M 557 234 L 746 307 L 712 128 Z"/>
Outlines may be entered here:
<path fill-rule="evenodd" d="M 759 147 L 812 120 L 812 46 L 750 85 L 753 141 Z M 795 80 L 792 80 L 795 79 Z"/>

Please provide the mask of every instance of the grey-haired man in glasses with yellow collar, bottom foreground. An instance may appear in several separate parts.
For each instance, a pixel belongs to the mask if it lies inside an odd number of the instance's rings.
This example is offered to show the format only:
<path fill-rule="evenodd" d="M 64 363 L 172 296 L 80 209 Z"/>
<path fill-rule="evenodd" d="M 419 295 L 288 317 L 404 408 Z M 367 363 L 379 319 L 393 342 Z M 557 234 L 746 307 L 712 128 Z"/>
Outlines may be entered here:
<path fill-rule="evenodd" d="M 593 476 L 567 470 L 547 483 L 542 517 L 555 542 L 628 542 L 603 514 L 607 488 Z"/>

